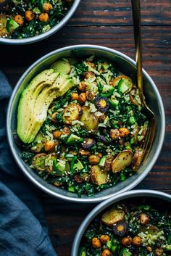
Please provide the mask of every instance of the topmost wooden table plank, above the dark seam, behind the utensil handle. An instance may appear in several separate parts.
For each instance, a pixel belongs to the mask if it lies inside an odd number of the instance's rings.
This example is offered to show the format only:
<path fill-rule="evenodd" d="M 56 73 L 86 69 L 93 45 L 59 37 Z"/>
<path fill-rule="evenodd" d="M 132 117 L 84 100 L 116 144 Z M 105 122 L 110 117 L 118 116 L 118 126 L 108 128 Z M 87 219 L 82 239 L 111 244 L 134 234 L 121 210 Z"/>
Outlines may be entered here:
<path fill-rule="evenodd" d="M 170 0 L 141 0 L 143 25 L 171 25 Z M 132 25 L 130 0 L 81 1 L 68 25 Z"/>

